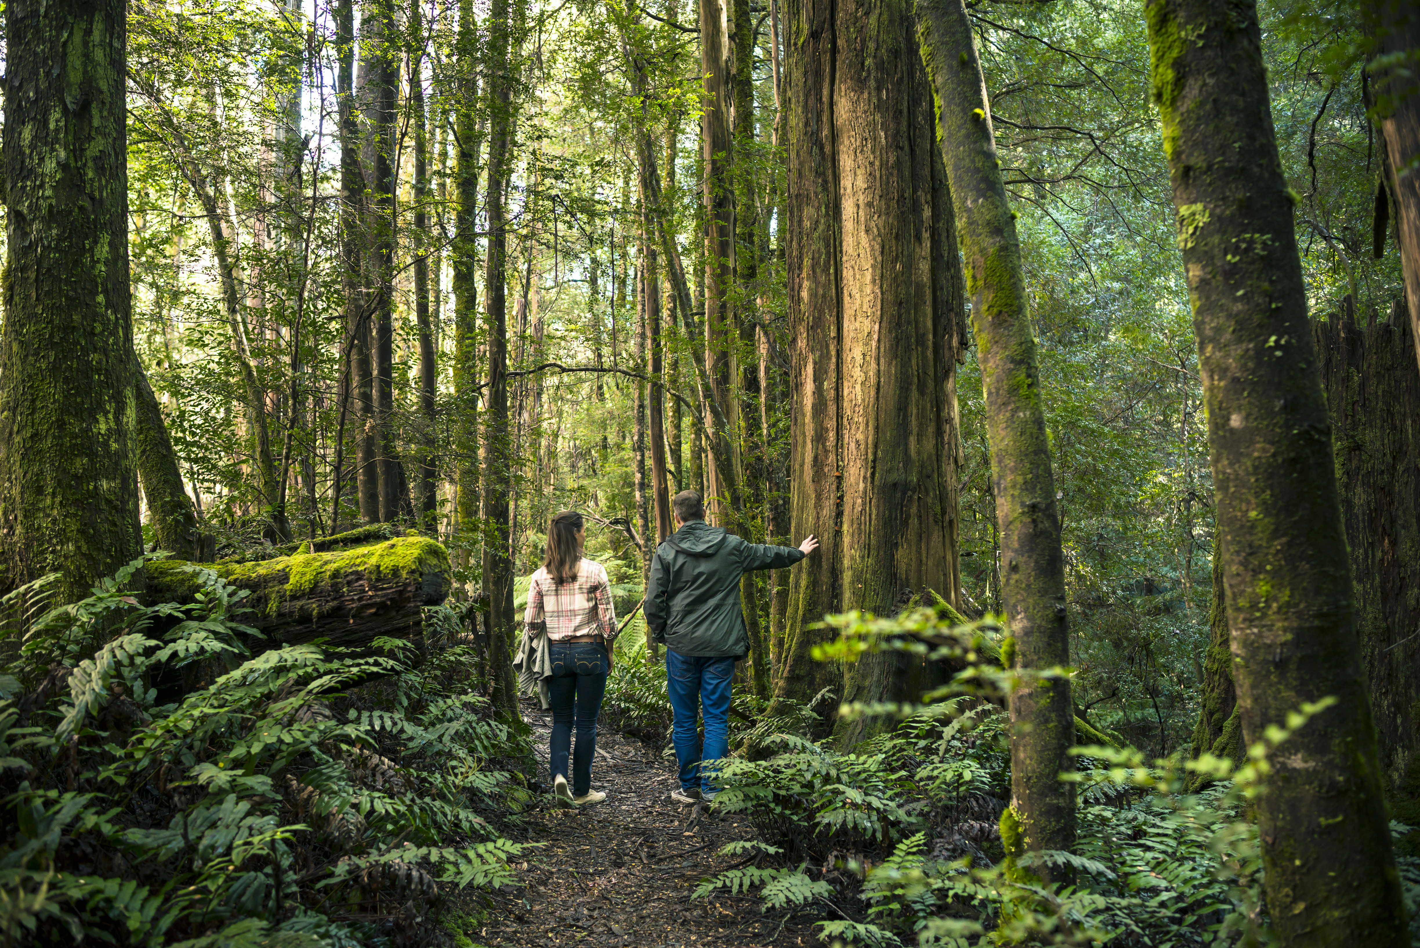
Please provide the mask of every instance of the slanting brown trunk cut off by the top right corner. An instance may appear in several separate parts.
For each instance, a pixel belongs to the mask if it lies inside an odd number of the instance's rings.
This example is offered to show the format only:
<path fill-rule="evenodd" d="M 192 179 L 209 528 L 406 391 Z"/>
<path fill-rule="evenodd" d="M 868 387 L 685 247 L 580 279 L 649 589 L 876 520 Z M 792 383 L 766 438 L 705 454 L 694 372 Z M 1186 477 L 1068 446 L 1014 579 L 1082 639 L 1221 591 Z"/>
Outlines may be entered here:
<path fill-rule="evenodd" d="M 1406 279 L 1410 337 L 1420 360 L 1420 71 L 1413 58 L 1420 50 L 1420 11 L 1402 0 L 1366 0 L 1366 27 L 1376 37 L 1375 53 L 1382 65 L 1370 75 L 1370 102 L 1380 119 L 1383 168 L 1382 186 L 1394 199 L 1400 236 L 1400 267 Z M 1380 200 L 1384 200 L 1382 195 Z M 1376 256 L 1386 235 L 1376 235 Z"/>

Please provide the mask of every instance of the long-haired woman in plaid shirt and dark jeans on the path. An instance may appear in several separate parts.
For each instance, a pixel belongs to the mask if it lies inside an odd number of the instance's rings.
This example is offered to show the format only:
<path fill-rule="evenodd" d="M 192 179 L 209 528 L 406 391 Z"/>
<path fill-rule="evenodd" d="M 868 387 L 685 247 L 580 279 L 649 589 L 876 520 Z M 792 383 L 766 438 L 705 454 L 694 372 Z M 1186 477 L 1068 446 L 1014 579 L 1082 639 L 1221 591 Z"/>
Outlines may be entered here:
<path fill-rule="evenodd" d="M 592 758 L 596 753 L 596 716 L 602 709 L 606 675 L 612 668 L 616 641 L 616 608 L 611 580 L 601 563 L 582 557 L 586 524 L 582 515 L 564 510 L 547 529 L 547 559 L 528 586 L 528 608 L 523 615 L 527 635 L 547 624 L 552 706 L 550 740 L 552 793 L 558 806 L 599 803 L 605 793 L 592 792 Z M 577 750 L 572 750 L 572 725 Z M 567 785 L 567 759 L 572 758 L 572 786 Z"/>

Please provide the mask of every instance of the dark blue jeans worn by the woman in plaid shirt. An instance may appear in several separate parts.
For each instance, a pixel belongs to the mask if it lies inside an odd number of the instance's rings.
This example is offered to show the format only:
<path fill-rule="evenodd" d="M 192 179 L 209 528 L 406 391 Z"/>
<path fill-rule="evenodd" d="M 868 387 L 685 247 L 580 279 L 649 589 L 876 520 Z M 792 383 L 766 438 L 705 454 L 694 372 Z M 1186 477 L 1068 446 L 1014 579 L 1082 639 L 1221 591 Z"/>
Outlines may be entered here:
<path fill-rule="evenodd" d="M 567 776 L 567 758 L 572 750 L 572 725 L 577 725 L 577 752 L 572 756 L 572 796 L 592 790 L 592 756 L 596 753 L 596 716 L 602 711 L 606 672 L 611 671 L 606 647 L 598 642 L 552 642 L 552 678 L 547 682 L 552 705 L 552 779 Z"/>

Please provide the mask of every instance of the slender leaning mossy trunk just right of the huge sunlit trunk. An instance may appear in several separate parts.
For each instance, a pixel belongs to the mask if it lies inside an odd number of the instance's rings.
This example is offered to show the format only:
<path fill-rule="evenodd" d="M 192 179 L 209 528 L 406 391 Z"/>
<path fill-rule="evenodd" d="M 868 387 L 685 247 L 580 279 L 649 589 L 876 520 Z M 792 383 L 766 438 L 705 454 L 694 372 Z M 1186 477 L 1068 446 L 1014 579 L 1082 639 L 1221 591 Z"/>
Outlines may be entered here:
<path fill-rule="evenodd" d="M 1014 665 L 1069 664 L 1065 564 L 1041 405 L 1035 340 L 1027 316 L 1021 244 L 995 156 L 991 105 L 961 0 L 917 0 L 922 57 L 937 104 L 937 141 L 951 182 L 971 325 L 985 392 L 987 442 L 1001 530 L 1001 605 Z M 1074 709 L 1069 681 L 1047 678 L 1011 695 L 1011 809 L 1028 850 L 1075 841 Z"/>

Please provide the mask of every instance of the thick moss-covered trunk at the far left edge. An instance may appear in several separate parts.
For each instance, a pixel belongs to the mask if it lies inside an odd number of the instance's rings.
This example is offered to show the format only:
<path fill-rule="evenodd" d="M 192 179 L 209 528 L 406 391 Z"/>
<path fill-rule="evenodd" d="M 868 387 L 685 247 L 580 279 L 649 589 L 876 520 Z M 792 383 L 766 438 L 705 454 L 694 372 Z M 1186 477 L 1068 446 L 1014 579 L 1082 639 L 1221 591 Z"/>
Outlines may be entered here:
<path fill-rule="evenodd" d="M 115 0 L 4 10 L 0 587 L 58 571 L 67 601 L 143 549 L 125 13 Z"/>

